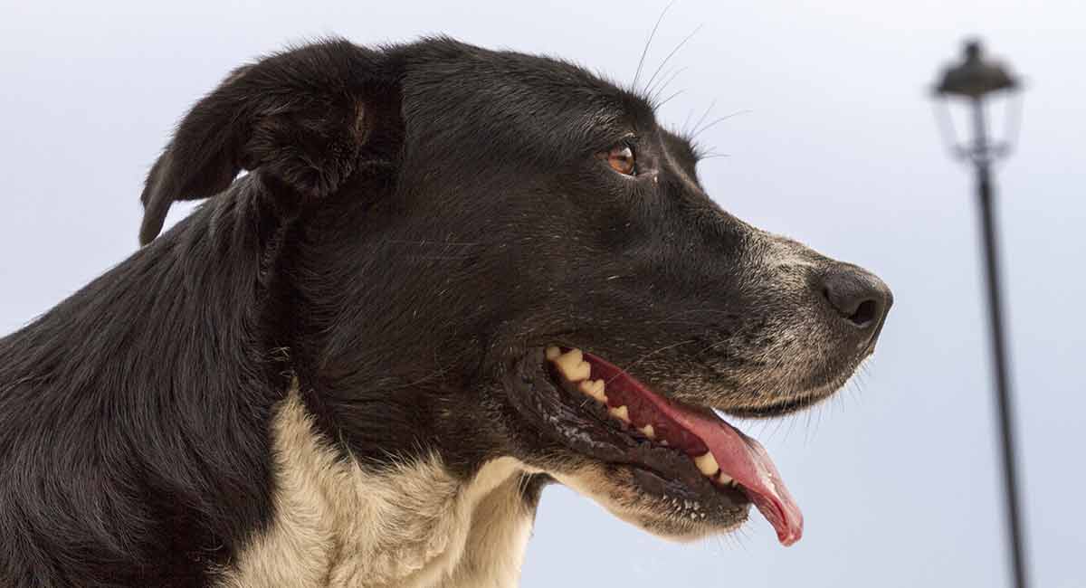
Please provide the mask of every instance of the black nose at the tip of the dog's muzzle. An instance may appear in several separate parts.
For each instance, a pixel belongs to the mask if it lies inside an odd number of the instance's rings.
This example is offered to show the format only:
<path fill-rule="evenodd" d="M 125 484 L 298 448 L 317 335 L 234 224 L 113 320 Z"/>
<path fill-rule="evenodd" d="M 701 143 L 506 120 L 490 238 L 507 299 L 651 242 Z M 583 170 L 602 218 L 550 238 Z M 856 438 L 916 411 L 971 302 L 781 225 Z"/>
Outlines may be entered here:
<path fill-rule="evenodd" d="M 894 294 L 874 273 L 856 266 L 839 264 L 822 277 L 822 294 L 830 306 L 849 328 L 863 334 L 875 333 Z"/>

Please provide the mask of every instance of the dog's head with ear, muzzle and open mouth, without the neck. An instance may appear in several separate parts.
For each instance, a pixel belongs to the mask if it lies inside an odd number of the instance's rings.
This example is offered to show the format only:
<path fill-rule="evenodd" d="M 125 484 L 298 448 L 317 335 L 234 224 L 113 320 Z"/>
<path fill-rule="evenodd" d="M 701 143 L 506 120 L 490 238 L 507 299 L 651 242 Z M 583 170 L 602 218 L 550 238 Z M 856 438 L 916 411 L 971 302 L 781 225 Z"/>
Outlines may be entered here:
<path fill-rule="evenodd" d="M 353 455 L 465 473 L 512 455 L 675 538 L 754 503 L 787 544 L 798 509 L 714 409 L 829 397 L 892 296 L 722 210 L 697 161 L 649 101 L 565 62 L 326 42 L 195 105 L 148 179 L 141 237 L 250 169 L 223 197 L 280 218 L 266 343 Z"/>

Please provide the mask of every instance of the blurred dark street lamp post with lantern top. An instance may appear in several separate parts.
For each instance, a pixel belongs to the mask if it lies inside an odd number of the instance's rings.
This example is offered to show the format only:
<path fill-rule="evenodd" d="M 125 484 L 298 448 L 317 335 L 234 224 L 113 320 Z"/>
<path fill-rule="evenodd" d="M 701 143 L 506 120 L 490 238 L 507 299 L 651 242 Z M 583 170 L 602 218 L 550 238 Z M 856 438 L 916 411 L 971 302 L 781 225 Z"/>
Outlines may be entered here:
<path fill-rule="evenodd" d="M 1019 81 L 1008 73 L 1001 64 L 988 61 L 978 41 L 965 44 L 964 60 L 947 67 L 935 87 L 935 95 L 940 99 L 944 111 L 940 119 L 944 132 L 947 133 L 955 155 L 965 159 L 976 170 L 976 187 L 983 229 L 983 250 L 985 276 L 988 286 L 988 319 L 992 328 L 993 368 L 995 371 L 996 405 L 998 408 L 998 424 L 1001 438 L 1003 476 L 1006 486 L 1006 510 L 1008 539 L 1013 563 L 1014 586 L 1026 588 L 1028 574 L 1025 561 L 1025 538 L 1022 528 L 1022 511 L 1019 501 L 1018 474 L 1015 470 L 1014 419 L 1011 405 L 1010 378 L 1008 374 L 1007 348 L 1003 338 L 1003 321 L 1001 308 L 1001 290 L 999 282 L 999 257 L 996 237 L 996 223 L 993 213 L 993 164 L 1010 152 L 1010 143 L 994 141 L 988 132 L 985 112 L 986 99 L 993 94 L 1011 94 L 1019 90 Z M 954 136 L 952 120 L 949 117 L 949 102 L 964 100 L 972 115 L 972 142 L 960 145 Z M 1010 111 L 1008 111 L 1010 114 Z M 1010 116 L 1008 117 L 1010 120 Z M 1016 126 L 1008 125 L 1007 132 L 1013 133 Z"/>

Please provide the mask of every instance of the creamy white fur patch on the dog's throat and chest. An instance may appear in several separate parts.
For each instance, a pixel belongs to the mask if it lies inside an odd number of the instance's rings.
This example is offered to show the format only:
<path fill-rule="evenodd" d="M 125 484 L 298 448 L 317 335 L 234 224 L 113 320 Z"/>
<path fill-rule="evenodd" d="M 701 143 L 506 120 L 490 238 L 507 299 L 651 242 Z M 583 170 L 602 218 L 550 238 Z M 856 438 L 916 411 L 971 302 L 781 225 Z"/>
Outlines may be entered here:
<path fill-rule="evenodd" d="M 295 391 L 273 435 L 275 520 L 219 587 L 517 585 L 534 519 L 517 460 L 488 461 L 468 482 L 435 455 L 367 472 L 339 459 Z"/>

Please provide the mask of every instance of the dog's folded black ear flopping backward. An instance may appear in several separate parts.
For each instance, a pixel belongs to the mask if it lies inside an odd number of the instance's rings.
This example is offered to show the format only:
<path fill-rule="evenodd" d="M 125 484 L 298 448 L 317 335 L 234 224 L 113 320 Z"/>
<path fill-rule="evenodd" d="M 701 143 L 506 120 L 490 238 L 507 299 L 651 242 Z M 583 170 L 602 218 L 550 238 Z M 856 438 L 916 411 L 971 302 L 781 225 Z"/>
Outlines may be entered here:
<path fill-rule="evenodd" d="M 140 243 L 159 234 L 174 201 L 217 194 L 242 169 L 269 174 L 292 197 L 320 199 L 364 151 L 394 156 L 389 138 L 399 133 L 381 127 L 400 124 L 397 84 L 381 54 L 343 40 L 236 69 L 185 116 L 148 174 Z M 375 136 L 381 150 L 367 149 Z"/>

